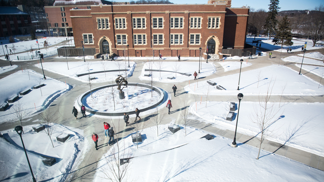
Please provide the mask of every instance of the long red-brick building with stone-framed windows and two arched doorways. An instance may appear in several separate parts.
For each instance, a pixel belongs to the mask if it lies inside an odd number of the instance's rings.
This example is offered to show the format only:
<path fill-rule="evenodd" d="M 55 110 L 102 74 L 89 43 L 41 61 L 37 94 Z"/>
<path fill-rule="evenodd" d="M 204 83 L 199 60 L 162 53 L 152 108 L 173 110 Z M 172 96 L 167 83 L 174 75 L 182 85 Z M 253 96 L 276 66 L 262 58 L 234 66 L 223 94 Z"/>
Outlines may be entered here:
<path fill-rule="evenodd" d="M 75 47 L 118 56 L 218 55 L 243 49 L 249 9 L 231 0 L 201 5 L 96 5 L 70 10 Z"/>

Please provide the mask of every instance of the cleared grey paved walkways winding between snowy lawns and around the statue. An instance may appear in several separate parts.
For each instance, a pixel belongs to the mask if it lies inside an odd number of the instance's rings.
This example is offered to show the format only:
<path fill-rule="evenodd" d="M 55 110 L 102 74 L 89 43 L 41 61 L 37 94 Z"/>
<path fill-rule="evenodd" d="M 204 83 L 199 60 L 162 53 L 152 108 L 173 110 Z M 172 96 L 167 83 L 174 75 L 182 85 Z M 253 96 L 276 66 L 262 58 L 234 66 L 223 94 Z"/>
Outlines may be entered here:
<path fill-rule="evenodd" d="M 288 66 L 288 67 L 299 72 L 299 68 L 295 66 L 295 63 L 287 63 L 287 62 L 283 62 L 281 60 L 279 62 L 280 53 L 275 52 L 275 51 L 272 51 L 272 53 L 273 53 L 272 59 L 269 59 L 269 56 L 263 56 L 263 57 L 253 58 L 253 60 L 248 60 L 248 62 L 252 62 L 253 65 L 249 66 L 249 67 L 242 68 L 242 72 L 257 69 L 260 67 L 265 67 L 265 66 L 269 66 L 269 65 L 278 65 L 278 64 Z M 299 54 L 299 53 L 293 53 L 293 54 L 281 53 L 281 58 L 293 56 L 293 55 L 297 55 L 297 54 Z M 183 59 L 185 59 L 185 58 L 183 58 Z M 60 61 L 63 62 L 64 61 L 65 62 L 66 60 L 63 58 L 59 59 L 59 58 L 49 57 L 49 58 L 45 58 L 44 61 L 45 62 L 52 62 L 52 61 L 54 61 L 54 62 L 60 62 Z M 76 60 L 74 58 L 69 58 L 68 61 L 73 62 L 73 61 L 80 61 L 80 60 Z M 100 59 L 87 60 L 87 61 L 100 61 Z M 134 60 L 134 61 L 137 63 L 137 66 L 135 68 L 133 76 L 128 78 L 128 82 L 147 83 L 147 81 L 141 81 L 138 78 L 139 75 L 141 74 L 142 67 L 145 63 L 144 60 L 138 60 L 138 61 Z M 167 60 L 167 61 L 177 61 L 177 60 Z M 195 60 L 187 60 L 187 61 L 193 62 Z M 206 61 L 206 60 L 203 60 L 203 61 Z M 239 72 L 239 69 L 224 72 L 223 68 L 219 64 L 217 64 L 217 62 L 220 62 L 220 60 L 215 60 L 215 61 L 209 60 L 209 62 L 215 62 L 217 72 L 213 75 L 207 76 L 206 78 L 199 79 L 199 81 L 209 80 L 211 78 L 225 76 L 225 75 L 231 75 L 231 74 Z M 26 69 L 28 67 L 29 69 L 32 69 L 39 73 L 42 73 L 41 69 L 38 69 L 33 66 L 36 63 L 37 63 L 37 61 L 13 62 L 13 64 L 19 65 L 19 68 L 17 68 L 17 69 L 21 69 L 21 67 L 23 69 Z M 0 61 L 0 66 L 8 66 L 8 65 L 9 65 L 8 62 Z M 0 79 L 9 75 L 9 74 L 12 74 L 13 72 L 16 72 L 17 69 L 15 69 L 13 71 L 6 72 L 4 74 L 1 74 Z M 302 74 L 303 73 L 305 73 L 306 76 L 308 76 L 309 78 L 311 78 L 317 82 L 320 81 L 320 77 L 318 77 L 312 73 L 302 70 Z M 58 99 L 56 99 L 50 105 L 50 107 L 51 107 L 51 110 L 57 111 L 58 119 L 56 121 L 58 124 L 63 124 L 63 125 L 67 125 L 70 127 L 82 129 L 84 131 L 84 136 L 85 136 L 86 140 L 88 140 L 88 142 L 91 146 L 91 149 L 84 156 L 84 160 L 80 163 L 80 165 L 77 166 L 77 168 L 74 168 L 70 171 L 69 176 L 68 176 L 68 181 L 92 181 L 94 174 L 96 172 L 96 169 L 97 169 L 97 161 L 100 160 L 102 155 L 104 153 L 106 153 L 106 151 L 109 150 L 109 148 L 110 148 L 110 146 L 108 145 L 109 138 L 104 137 L 103 122 L 104 121 L 108 122 L 108 123 L 112 123 L 112 122 L 110 119 L 97 118 L 94 116 L 90 116 L 87 118 L 80 118 L 80 119 L 76 120 L 73 117 L 73 115 L 71 114 L 73 104 L 75 102 L 75 99 L 79 95 L 81 95 L 84 92 L 86 92 L 87 90 L 89 90 L 89 86 L 87 85 L 87 83 L 83 83 L 83 82 L 74 80 L 72 78 L 62 76 L 62 75 L 59 75 L 56 73 L 52 73 L 52 72 L 49 72 L 46 70 L 45 70 L 45 75 L 52 77 L 54 79 L 63 81 L 63 82 L 66 81 L 66 83 L 73 86 L 73 88 L 69 92 L 60 96 Z M 298 76 L 298 74 L 296 76 Z M 94 83 L 93 87 L 98 87 L 98 86 L 102 86 L 102 85 L 106 85 L 106 84 L 107 84 L 106 82 Z M 173 84 L 174 83 L 156 82 L 155 86 L 158 86 L 162 89 L 165 89 L 167 92 L 172 93 Z M 187 81 L 181 82 L 181 83 L 176 83 L 176 86 L 178 87 L 177 94 L 176 94 L 177 97 L 172 97 L 173 108 L 171 109 L 171 111 L 175 111 L 175 112 L 172 112 L 172 114 L 170 114 L 170 115 L 166 115 L 164 117 L 164 120 L 160 124 L 168 124 L 171 121 L 175 121 L 176 124 L 183 124 L 183 120 L 181 117 L 181 108 L 183 108 L 182 100 L 185 98 L 188 103 L 192 103 L 192 102 L 196 102 L 196 101 L 200 100 L 200 96 L 198 96 L 198 95 L 186 94 L 183 87 L 187 84 L 188 84 Z M 237 83 L 235 82 L 234 84 L 237 84 Z M 173 96 L 173 93 L 172 93 L 172 96 Z M 279 96 L 272 96 L 272 99 L 277 99 L 278 97 Z M 209 96 L 208 98 L 209 98 L 209 101 L 238 102 L 236 96 Z M 284 96 L 284 99 L 286 100 L 286 102 L 301 102 L 301 103 L 304 103 L 304 102 L 306 102 L 306 103 L 321 102 L 322 103 L 322 102 L 324 102 L 323 96 Z M 258 96 L 245 96 L 244 101 L 258 102 Z M 244 101 L 242 101 L 242 102 L 244 102 Z M 167 108 L 165 108 L 165 110 L 167 110 Z M 150 117 L 152 117 L 152 114 L 150 114 L 150 115 L 140 114 L 140 116 L 143 120 L 143 122 L 141 122 L 143 127 L 154 126 L 154 124 L 152 122 L 150 122 Z M 34 115 L 30 118 L 25 118 L 24 125 L 34 124 L 34 123 L 32 123 L 32 121 L 36 120 L 36 119 L 39 119 L 38 115 Z M 121 139 L 125 136 L 128 136 L 129 134 L 134 132 L 135 127 L 134 127 L 134 125 L 132 125 L 132 122 L 134 121 L 134 119 L 135 119 L 134 117 L 130 118 L 131 125 L 128 127 L 125 126 L 125 122 L 123 119 L 119 119 L 119 120 L 112 119 L 115 124 L 115 127 L 114 127 L 115 132 L 116 133 L 119 132 L 119 139 Z M 117 125 L 118 125 L 117 123 L 120 123 L 119 129 L 117 127 Z M 19 124 L 20 123 L 18 121 L 7 122 L 7 123 L 0 124 L 0 127 L 1 127 L 1 130 L 6 130 L 6 129 L 14 128 L 16 125 L 19 125 Z M 234 138 L 234 131 L 222 130 L 222 129 L 219 129 L 219 128 L 213 126 L 213 124 L 200 122 L 198 119 L 190 120 L 189 126 L 203 129 L 205 131 L 215 133 L 216 135 L 223 136 L 223 137 L 226 137 L 229 139 Z M 99 136 L 98 150 L 95 150 L 95 148 L 94 148 L 94 143 L 91 139 L 92 132 L 96 132 Z M 242 133 L 236 134 L 236 141 L 237 141 L 237 145 L 250 145 L 253 147 L 258 147 L 258 144 L 259 144 L 259 141 L 257 139 L 255 139 L 251 136 L 248 136 L 246 134 L 242 134 Z M 302 150 L 299 150 L 299 149 L 296 149 L 293 147 L 289 147 L 289 146 L 281 145 L 281 144 L 278 144 L 275 142 L 271 142 L 271 141 L 264 141 L 264 143 L 262 144 L 262 149 L 265 151 L 269 151 L 270 153 L 284 156 L 289 159 L 301 162 L 301 163 L 309 165 L 311 167 L 314 167 L 314 168 L 317 168 L 320 170 L 324 170 L 324 157 L 321 157 L 321 156 L 318 156 L 318 155 L 315 155 L 315 154 L 312 154 L 309 152 L 305 152 L 305 151 L 302 151 Z M 235 148 L 233 148 L 232 150 L 235 150 Z M 261 156 L 261 157 L 266 157 L 266 156 Z M 55 177 L 55 176 L 53 176 L 53 177 Z"/>

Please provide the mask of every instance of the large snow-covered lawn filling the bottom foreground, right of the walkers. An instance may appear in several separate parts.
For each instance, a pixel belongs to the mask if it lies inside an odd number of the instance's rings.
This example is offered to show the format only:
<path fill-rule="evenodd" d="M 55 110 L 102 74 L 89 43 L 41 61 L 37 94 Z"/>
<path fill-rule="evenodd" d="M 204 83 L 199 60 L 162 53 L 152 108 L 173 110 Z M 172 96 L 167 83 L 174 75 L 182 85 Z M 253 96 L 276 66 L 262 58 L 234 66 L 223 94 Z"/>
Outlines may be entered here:
<path fill-rule="evenodd" d="M 183 127 L 172 134 L 167 125 L 159 126 L 159 136 L 156 127 L 141 134 L 144 141 L 138 149 L 131 136 L 120 141 L 120 158 L 135 157 L 124 181 L 321 181 L 324 176 L 323 171 L 265 151 L 256 160 L 258 149 L 232 148 L 232 139 L 217 135 L 210 141 L 200 139 L 207 132 L 191 127 L 187 136 Z M 115 164 L 117 151 L 114 144 L 99 160 L 94 181 L 107 181 L 105 173 L 113 177 L 108 164 Z"/>

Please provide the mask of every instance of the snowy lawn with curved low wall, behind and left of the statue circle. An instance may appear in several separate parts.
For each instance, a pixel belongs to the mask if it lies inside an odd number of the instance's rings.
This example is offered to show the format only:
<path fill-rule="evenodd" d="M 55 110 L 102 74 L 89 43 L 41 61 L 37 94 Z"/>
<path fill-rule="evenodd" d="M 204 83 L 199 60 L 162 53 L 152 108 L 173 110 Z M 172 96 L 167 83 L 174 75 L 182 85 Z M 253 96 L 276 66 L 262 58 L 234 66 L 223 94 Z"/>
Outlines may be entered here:
<path fill-rule="evenodd" d="M 35 64 L 36 67 L 42 68 L 41 64 Z M 89 69 L 88 69 L 89 66 Z M 136 63 L 130 62 L 130 68 L 128 67 L 128 62 L 125 64 L 124 61 L 92 61 L 92 62 L 68 62 L 67 69 L 67 63 L 66 62 L 45 62 L 43 63 L 43 68 L 47 71 L 51 71 L 54 73 L 58 73 L 82 82 L 89 82 L 89 76 L 79 76 L 77 77 L 77 74 L 82 73 L 88 73 L 88 71 L 96 72 L 96 71 L 109 71 L 109 70 L 123 70 L 128 69 L 127 71 L 127 77 L 130 77 L 133 75 L 133 71 L 136 67 Z M 105 68 L 105 69 L 104 69 Z M 98 82 L 107 82 L 107 81 L 113 81 L 115 83 L 115 79 L 118 77 L 118 74 L 123 74 L 125 77 L 125 71 L 114 71 L 114 72 L 106 72 L 106 73 L 96 73 L 96 74 L 90 74 L 90 77 L 96 77 L 96 79 L 91 80 L 93 83 Z"/>

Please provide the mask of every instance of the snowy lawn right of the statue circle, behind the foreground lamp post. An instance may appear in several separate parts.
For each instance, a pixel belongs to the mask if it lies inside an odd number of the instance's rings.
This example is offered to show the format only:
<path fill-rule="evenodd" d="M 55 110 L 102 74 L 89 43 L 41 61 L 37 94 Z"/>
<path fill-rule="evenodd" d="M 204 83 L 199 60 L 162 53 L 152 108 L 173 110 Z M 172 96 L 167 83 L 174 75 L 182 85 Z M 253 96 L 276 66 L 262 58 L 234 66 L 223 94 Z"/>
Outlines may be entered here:
<path fill-rule="evenodd" d="M 318 88 L 318 82 L 285 66 L 272 65 L 251 71 L 242 71 L 237 90 L 239 73 L 211 79 L 217 85 L 225 88 L 220 90 L 217 86 L 211 86 L 207 81 L 191 83 L 184 87 L 190 94 L 206 95 L 234 95 L 242 93 L 245 96 L 265 95 L 271 81 L 273 85 L 272 95 L 285 96 L 318 96 L 324 94 L 322 85 Z M 259 81 L 258 81 L 259 80 Z"/>

